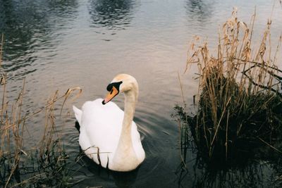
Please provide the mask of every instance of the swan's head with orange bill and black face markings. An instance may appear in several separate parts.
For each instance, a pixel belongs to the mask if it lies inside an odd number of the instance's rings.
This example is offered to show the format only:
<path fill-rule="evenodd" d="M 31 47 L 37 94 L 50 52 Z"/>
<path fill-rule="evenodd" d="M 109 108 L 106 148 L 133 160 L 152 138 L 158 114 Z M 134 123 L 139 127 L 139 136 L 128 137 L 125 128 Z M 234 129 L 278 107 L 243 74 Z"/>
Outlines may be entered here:
<path fill-rule="evenodd" d="M 123 92 L 126 94 L 133 91 L 136 99 L 138 95 L 138 84 L 133 76 L 120 74 L 114 77 L 114 80 L 112 80 L 108 87 L 106 87 L 106 90 L 109 93 L 106 95 L 104 101 L 102 101 L 102 104 L 106 104 L 111 101 L 111 99 L 114 99 L 116 95 Z"/>

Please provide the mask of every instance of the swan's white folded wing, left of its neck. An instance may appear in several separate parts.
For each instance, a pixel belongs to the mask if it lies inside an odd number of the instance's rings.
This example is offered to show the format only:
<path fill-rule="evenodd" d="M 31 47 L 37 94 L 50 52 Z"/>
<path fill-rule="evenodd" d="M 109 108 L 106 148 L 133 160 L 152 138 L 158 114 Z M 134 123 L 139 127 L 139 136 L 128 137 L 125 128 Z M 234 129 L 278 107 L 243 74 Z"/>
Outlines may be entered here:
<path fill-rule="evenodd" d="M 97 148 L 102 166 L 114 155 L 121 135 L 123 111 L 113 102 L 102 105 L 102 99 L 87 101 L 82 106 L 80 146 L 97 162 Z M 90 149 L 91 148 L 91 149 Z M 99 162 L 98 162 L 99 163 Z"/>

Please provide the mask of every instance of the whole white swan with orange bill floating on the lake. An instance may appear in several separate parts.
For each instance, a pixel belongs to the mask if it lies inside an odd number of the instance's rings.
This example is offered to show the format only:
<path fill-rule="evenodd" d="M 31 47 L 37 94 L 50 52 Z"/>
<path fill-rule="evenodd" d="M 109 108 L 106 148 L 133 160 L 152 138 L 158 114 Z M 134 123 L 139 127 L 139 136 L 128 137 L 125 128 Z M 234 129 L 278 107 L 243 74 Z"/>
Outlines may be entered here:
<path fill-rule="evenodd" d="M 110 170 L 134 170 L 145 159 L 140 134 L 133 121 L 138 84 L 131 75 L 120 74 L 106 87 L 106 98 L 86 101 L 81 110 L 73 106 L 80 124 L 79 144 L 86 156 Z M 114 102 L 124 93 L 124 112 Z"/>

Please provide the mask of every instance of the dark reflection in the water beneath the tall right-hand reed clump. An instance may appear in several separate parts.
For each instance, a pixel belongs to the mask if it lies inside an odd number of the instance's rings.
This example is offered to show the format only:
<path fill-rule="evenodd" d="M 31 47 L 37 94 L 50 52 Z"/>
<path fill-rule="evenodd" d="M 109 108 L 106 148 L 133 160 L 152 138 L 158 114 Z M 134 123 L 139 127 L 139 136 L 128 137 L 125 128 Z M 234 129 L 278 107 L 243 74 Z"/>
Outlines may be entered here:
<path fill-rule="evenodd" d="M 190 126 L 190 119 L 183 113 L 183 108 L 175 108 L 174 117 L 181 120 L 183 127 Z M 179 110 L 180 109 L 180 110 Z M 187 123 L 188 122 L 188 123 Z M 188 138 L 193 138 L 188 130 Z M 272 144 L 281 148 L 280 139 Z M 193 139 L 181 140 L 181 154 L 183 161 L 176 170 L 178 187 L 192 177 L 192 187 L 281 187 L 282 182 L 277 181 L 282 175 L 281 153 L 259 140 L 244 140 L 236 144 L 231 158 L 226 161 L 224 153 L 213 158 L 207 157 L 204 146 L 195 146 Z M 187 160 L 187 152 L 195 154 L 195 158 Z"/>

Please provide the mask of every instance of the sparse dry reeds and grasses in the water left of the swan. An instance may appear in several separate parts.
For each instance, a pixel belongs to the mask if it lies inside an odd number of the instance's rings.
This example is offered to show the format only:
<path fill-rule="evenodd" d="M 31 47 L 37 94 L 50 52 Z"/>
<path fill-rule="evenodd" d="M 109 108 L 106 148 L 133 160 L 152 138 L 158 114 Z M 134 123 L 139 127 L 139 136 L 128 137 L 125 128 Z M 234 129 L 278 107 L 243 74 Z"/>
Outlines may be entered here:
<path fill-rule="evenodd" d="M 4 35 L 1 37 L 0 63 L 3 55 Z M 1 64 L 0 64 L 1 65 Z M 63 104 L 79 87 L 68 89 L 66 94 L 59 96 L 56 91 L 47 100 L 46 106 L 33 113 L 22 110 L 25 96 L 25 80 L 16 99 L 8 101 L 6 90 L 7 76 L 1 70 L 1 90 L 3 91 L 0 111 L 0 187 L 71 187 L 71 171 L 67 165 L 66 153 L 61 134 L 56 130 L 56 108 L 63 109 Z M 63 104 L 57 104 L 63 101 Z M 31 149 L 25 149 L 24 134 L 27 134 L 27 120 L 32 116 L 45 114 L 42 139 Z"/>

